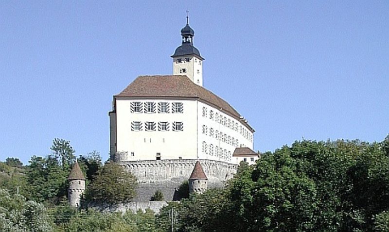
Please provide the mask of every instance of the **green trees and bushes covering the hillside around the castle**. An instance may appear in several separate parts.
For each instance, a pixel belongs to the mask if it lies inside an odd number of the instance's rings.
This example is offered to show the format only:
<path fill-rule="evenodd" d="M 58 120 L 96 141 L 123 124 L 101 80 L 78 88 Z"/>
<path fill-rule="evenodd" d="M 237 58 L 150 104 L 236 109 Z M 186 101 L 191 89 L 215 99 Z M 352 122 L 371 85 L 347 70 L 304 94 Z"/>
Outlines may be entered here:
<path fill-rule="evenodd" d="M 51 150 L 26 166 L 17 158 L 0 163 L 0 231 L 170 232 L 172 226 L 177 232 L 389 231 L 389 136 L 379 143 L 297 141 L 262 154 L 253 166 L 241 163 L 225 188 L 172 202 L 159 215 L 70 207 L 66 178 L 74 150 L 62 139 L 54 139 Z M 133 197 L 124 197 L 123 188 L 109 192 L 116 199 L 98 194 L 100 187 L 118 184 L 110 178 L 116 174 L 99 175 L 120 173 L 120 166 L 103 166 L 98 152 L 78 162 L 87 177 L 86 200 L 118 203 Z M 127 179 L 131 195 L 136 180 Z"/>

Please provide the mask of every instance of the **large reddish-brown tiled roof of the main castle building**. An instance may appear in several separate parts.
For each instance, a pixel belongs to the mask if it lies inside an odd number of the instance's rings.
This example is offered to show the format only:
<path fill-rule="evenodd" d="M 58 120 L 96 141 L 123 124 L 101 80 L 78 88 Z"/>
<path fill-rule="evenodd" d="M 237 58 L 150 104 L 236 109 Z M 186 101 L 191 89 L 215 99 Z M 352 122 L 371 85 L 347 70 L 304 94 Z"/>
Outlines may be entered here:
<path fill-rule="evenodd" d="M 117 97 L 174 97 L 174 98 L 197 98 L 202 102 L 220 109 L 224 113 L 241 120 L 240 114 L 230 106 L 227 101 L 219 98 L 211 91 L 193 83 L 187 76 L 139 76 L 130 83 Z M 248 123 L 241 122 L 252 132 Z"/>

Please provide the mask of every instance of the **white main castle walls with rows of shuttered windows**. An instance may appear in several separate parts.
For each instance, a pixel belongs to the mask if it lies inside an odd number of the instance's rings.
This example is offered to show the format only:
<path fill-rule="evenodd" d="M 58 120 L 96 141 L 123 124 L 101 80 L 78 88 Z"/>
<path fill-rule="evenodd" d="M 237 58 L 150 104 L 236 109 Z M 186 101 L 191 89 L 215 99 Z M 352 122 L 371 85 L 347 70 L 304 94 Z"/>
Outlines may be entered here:
<path fill-rule="evenodd" d="M 177 103 L 181 112 L 173 110 Z M 142 109 L 134 109 L 134 104 Z M 198 99 L 117 97 L 115 105 L 116 114 L 110 114 L 115 125 L 110 128 L 116 129 L 111 132 L 116 149 L 111 146 L 111 153 L 118 153 L 120 161 L 207 159 L 236 164 L 235 148 L 253 148 L 253 133 L 241 120 Z M 168 111 L 161 111 L 161 105 Z"/>

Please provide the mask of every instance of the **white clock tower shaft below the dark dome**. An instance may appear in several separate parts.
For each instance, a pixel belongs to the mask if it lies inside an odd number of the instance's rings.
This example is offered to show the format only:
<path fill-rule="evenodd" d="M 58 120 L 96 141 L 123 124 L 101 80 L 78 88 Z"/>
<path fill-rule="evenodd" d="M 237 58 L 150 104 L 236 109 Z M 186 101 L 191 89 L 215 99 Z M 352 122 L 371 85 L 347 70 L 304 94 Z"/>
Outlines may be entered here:
<path fill-rule="evenodd" d="M 195 56 L 175 57 L 173 75 L 186 75 L 193 83 L 203 86 L 203 60 Z"/>

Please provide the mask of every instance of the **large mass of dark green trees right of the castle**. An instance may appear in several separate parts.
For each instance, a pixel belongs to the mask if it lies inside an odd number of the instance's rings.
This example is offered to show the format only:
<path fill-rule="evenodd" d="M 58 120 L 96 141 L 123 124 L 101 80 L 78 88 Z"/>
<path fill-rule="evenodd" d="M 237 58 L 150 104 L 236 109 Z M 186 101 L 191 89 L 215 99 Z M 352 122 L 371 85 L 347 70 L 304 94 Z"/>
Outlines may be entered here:
<path fill-rule="evenodd" d="M 178 231 L 388 231 L 388 147 L 388 137 L 304 140 L 266 152 L 242 163 L 223 191 L 182 200 Z"/>

